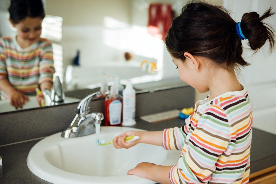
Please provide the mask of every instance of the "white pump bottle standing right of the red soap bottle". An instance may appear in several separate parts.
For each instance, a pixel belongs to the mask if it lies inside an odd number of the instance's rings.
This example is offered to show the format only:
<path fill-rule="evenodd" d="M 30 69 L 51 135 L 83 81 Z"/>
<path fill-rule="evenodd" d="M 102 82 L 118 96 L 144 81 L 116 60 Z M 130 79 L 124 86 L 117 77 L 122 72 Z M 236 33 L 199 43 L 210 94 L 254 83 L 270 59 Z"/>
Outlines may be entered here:
<path fill-rule="evenodd" d="M 133 126 L 135 121 L 136 93 L 131 81 L 127 81 L 123 90 L 123 126 Z"/>

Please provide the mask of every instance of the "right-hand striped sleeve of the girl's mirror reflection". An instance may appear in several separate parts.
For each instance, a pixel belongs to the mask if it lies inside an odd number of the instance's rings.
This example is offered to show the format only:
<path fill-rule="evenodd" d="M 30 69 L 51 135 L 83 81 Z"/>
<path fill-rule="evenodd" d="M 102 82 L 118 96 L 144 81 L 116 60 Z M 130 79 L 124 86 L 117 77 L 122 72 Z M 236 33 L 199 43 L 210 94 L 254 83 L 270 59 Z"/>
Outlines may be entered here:
<path fill-rule="evenodd" d="M 41 61 L 39 62 L 39 80 L 38 83 L 53 82 L 53 74 L 55 73 L 53 48 L 50 42 L 47 42 L 41 51 Z"/>

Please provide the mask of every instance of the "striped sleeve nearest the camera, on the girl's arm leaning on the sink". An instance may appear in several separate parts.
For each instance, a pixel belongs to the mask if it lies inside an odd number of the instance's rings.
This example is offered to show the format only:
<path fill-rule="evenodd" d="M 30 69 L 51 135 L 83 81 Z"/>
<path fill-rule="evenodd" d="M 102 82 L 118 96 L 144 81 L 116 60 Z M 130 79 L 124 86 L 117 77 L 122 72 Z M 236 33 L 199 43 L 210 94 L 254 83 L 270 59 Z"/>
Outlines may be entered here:
<path fill-rule="evenodd" d="M 191 127 L 190 131 L 192 133 L 185 141 L 183 156 L 170 170 L 173 184 L 208 183 L 216 170 L 216 162 L 229 144 L 228 119 L 218 106 L 209 106 L 198 118 L 197 126 Z"/>

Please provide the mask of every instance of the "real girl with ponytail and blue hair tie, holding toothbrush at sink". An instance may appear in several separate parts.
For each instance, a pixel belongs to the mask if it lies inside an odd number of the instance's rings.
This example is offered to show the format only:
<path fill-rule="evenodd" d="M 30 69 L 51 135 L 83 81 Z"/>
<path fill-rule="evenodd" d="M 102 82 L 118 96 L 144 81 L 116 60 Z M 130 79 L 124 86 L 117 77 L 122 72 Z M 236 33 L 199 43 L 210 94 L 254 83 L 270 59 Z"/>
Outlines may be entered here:
<path fill-rule="evenodd" d="M 252 138 L 252 102 L 235 75 L 235 67 L 247 66 L 241 56 L 241 39 L 253 50 L 274 33 L 262 23 L 272 15 L 271 8 L 259 17 L 245 13 L 236 23 L 227 10 L 203 2 L 185 5 L 175 18 L 165 43 L 180 78 L 199 93 L 210 91 L 195 104 L 195 113 L 181 128 L 157 132 L 124 132 L 116 137 L 116 148 L 137 143 L 182 150 L 174 166 L 140 163 L 128 171 L 158 183 L 248 183 Z M 124 142 L 138 135 L 134 142 Z"/>

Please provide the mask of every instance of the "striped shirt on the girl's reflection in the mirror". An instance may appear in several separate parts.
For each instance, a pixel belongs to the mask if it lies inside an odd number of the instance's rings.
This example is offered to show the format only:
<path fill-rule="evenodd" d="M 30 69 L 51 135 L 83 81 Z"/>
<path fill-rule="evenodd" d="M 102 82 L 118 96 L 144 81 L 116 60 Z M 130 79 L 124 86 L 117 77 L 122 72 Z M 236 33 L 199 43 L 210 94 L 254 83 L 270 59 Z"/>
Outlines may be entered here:
<path fill-rule="evenodd" d="M 0 38 L 0 80 L 8 79 L 19 92 L 35 95 L 43 82 L 53 82 L 52 44 L 40 38 L 22 49 L 14 37 Z"/>

